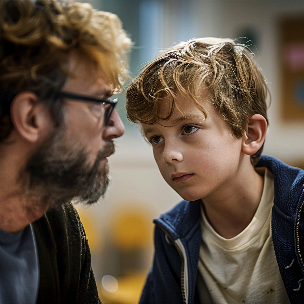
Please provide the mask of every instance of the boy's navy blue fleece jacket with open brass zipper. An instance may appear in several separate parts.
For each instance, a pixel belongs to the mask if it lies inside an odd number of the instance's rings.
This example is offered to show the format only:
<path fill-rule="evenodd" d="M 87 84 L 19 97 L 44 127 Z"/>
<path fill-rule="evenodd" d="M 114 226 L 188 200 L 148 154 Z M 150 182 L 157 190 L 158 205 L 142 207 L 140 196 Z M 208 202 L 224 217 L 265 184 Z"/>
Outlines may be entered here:
<path fill-rule="evenodd" d="M 270 156 L 262 156 L 257 167 L 267 167 L 274 177 L 271 231 L 287 295 L 291 303 L 304 303 L 304 171 Z M 200 201 L 182 201 L 154 223 L 154 261 L 140 303 L 195 303 Z"/>

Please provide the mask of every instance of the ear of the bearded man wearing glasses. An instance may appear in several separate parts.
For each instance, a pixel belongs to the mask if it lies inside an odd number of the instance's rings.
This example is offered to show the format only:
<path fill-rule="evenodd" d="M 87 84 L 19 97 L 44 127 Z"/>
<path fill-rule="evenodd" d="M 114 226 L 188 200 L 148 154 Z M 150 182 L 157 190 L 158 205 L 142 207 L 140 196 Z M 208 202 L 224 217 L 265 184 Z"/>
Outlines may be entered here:
<path fill-rule="evenodd" d="M 17 133 L 30 143 L 38 142 L 40 134 L 50 127 L 50 115 L 33 92 L 21 92 L 14 97 L 11 118 Z"/>

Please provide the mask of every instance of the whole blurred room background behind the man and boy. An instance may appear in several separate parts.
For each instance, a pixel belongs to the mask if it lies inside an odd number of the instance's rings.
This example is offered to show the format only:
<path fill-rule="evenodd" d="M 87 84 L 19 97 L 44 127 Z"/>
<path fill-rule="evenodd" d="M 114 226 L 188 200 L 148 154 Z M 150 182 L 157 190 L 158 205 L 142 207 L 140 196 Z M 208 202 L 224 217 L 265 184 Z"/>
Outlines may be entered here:
<path fill-rule="evenodd" d="M 272 103 L 264 154 L 304 167 L 304 1 L 91 0 L 117 14 L 134 42 L 131 75 L 179 41 L 215 36 L 251 40 Z M 249 43 L 250 44 L 250 43 Z M 181 200 L 163 180 L 152 149 L 126 118 L 125 92 L 117 109 L 126 126 L 109 158 L 112 183 L 96 206 L 76 205 L 104 303 L 136 303 L 153 257 L 152 220 Z"/>

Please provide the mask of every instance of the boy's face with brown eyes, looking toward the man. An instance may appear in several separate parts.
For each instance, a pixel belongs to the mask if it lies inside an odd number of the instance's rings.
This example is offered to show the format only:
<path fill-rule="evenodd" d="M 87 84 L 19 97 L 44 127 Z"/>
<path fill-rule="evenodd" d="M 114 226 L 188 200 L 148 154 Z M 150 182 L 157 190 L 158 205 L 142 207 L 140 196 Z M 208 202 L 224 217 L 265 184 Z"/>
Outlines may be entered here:
<path fill-rule="evenodd" d="M 161 124 L 143 124 L 163 178 L 187 201 L 223 193 L 244 156 L 242 138 L 232 135 L 214 105 L 203 102 L 207 119 L 191 100 L 179 96 L 177 104 L 190 119 L 175 109 Z M 168 115 L 168 109 L 169 102 L 163 102 L 161 114 Z"/>

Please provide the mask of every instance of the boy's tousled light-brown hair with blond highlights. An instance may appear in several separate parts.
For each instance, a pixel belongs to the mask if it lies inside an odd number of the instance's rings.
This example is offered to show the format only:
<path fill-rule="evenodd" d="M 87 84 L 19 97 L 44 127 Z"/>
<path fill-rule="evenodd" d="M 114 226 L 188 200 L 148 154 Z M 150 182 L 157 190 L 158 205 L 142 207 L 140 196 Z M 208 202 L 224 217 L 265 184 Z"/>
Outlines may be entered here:
<path fill-rule="evenodd" d="M 178 94 L 190 97 L 207 118 L 202 88 L 206 88 L 208 100 L 229 123 L 234 136 L 244 135 L 254 114 L 261 114 L 268 123 L 269 89 L 253 54 L 244 44 L 213 37 L 179 43 L 147 64 L 127 89 L 128 119 L 154 124 L 159 119 L 169 119 L 175 108 L 187 117 L 175 102 Z M 164 98 L 171 100 L 171 109 L 168 116 L 160 117 Z M 253 165 L 262 150 L 263 146 L 251 155 Z"/>

